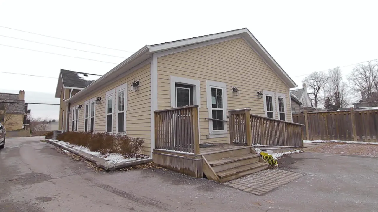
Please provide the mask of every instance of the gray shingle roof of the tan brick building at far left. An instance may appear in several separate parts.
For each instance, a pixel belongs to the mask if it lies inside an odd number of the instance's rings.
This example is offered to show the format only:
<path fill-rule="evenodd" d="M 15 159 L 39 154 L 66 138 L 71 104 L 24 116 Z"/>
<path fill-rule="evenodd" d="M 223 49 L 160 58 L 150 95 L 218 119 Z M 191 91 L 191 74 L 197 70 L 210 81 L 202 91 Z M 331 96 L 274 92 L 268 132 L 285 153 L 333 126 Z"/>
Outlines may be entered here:
<path fill-rule="evenodd" d="M 19 94 L 0 93 L 0 104 L 8 105 L 6 106 L 6 113 L 8 114 L 24 114 L 25 113 L 24 102 L 25 102 L 24 100 L 19 100 Z"/>

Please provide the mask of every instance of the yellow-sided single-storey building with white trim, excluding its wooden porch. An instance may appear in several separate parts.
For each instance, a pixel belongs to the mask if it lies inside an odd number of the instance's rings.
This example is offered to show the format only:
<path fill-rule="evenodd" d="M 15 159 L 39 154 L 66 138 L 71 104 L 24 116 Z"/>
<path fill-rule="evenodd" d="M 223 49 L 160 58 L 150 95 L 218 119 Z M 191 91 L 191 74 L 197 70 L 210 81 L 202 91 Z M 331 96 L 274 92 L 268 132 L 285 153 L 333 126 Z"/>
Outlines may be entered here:
<path fill-rule="evenodd" d="M 64 125 L 143 138 L 144 154 L 152 155 L 154 111 L 198 105 L 200 143 L 229 143 L 229 109 L 292 121 L 296 86 L 248 29 L 238 29 L 144 46 L 76 95 L 66 94 Z"/>

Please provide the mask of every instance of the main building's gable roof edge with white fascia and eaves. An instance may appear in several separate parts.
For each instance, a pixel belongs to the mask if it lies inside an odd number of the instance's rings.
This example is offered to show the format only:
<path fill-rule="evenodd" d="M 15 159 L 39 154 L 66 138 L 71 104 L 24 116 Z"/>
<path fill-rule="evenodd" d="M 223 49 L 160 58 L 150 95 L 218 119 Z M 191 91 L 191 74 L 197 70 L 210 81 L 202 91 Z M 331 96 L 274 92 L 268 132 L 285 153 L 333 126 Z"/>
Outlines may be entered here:
<path fill-rule="evenodd" d="M 135 52 L 129 58 L 127 58 L 115 68 L 96 80 L 94 83 L 88 85 L 86 88 L 82 89 L 82 91 L 78 92 L 73 97 L 68 99 L 67 102 L 76 101 L 83 95 L 95 92 L 97 89 L 100 89 L 106 84 L 109 84 L 112 80 L 115 80 L 119 75 L 129 71 L 132 68 L 135 68 L 137 65 L 143 63 L 144 61 L 149 60 L 155 53 L 173 49 L 180 52 L 185 51 L 181 48 L 200 45 L 206 42 L 219 43 L 227 39 L 231 40 L 236 38 L 243 38 L 246 43 L 248 43 L 248 45 L 251 46 L 251 48 L 262 58 L 262 60 L 282 79 L 282 81 L 287 84 L 289 88 L 297 87 L 297 84 L 295 84 L 294 81 L 287 75 L 287 73 L 283 71 L 281 66 L 278 65 L 278 63 L 273 59 L 273 57 L 271 57 L 271 55 L 252 35 L 252 33 L 247 28 L 243 28 L 216 34 L 192 37 L 183 40 L 143 46 L 143 48 L 139 49 L 139 51 Z"/>

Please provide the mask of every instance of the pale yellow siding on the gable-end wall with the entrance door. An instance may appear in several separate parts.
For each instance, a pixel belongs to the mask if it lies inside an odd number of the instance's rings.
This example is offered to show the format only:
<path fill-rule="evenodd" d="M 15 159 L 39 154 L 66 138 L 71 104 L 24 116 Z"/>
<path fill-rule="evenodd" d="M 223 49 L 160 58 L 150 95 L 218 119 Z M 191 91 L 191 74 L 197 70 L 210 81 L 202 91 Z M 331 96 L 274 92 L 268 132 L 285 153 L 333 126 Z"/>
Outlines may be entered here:
<path fill-rule="evenodd" d="M 272 91 L 286 96 L 287 121 L 291 121 L 288 86 L 242 39 L 178 52 L 158 58 L 158 109 L 170 108 L 170 76 L 200 80 L 200 139 L 204 142 L 229 142 L 228 135 L 207 138 L 209 135 L 206 108 L 206 80 L 226 83 L 227 109 L 251 108 L 251 113 L 265 116 L 263 99 L 257 91 Z M 240 95 L 232 93 L 237 86 Z M 275 117 L 278 118 L 274 97 Z M 228 133 L 228 124 L 227 124 Z"/>

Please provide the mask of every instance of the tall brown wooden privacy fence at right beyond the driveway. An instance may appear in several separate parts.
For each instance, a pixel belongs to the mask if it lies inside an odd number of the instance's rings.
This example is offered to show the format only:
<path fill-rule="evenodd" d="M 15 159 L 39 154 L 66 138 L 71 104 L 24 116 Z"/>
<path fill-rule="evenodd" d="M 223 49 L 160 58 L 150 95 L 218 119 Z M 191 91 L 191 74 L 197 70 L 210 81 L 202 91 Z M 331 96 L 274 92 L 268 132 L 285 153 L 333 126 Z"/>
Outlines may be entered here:
<path fill-rule="evenodd" d="M 304 124 L 307 140 L 377 142 L 378 110 L 333 111 L 293 114 L 293 121 Z"/>

